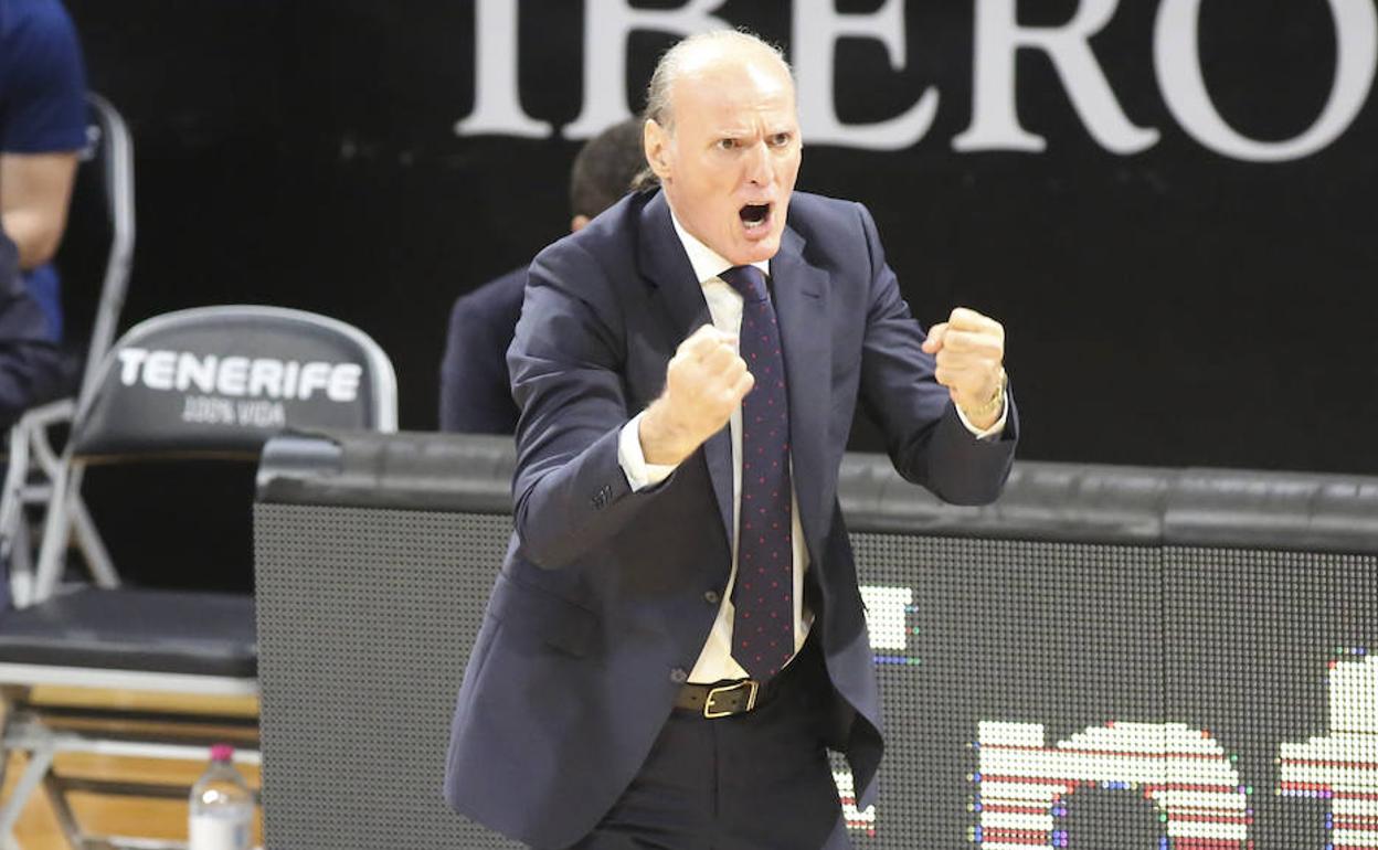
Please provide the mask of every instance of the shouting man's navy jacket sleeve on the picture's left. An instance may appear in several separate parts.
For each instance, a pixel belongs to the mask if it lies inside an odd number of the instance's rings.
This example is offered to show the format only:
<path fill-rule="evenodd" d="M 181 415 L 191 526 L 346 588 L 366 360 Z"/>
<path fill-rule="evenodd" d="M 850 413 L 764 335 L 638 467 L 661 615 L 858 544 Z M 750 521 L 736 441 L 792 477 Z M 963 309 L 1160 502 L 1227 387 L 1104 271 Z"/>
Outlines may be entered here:
<path fill-rule="evenodd" d="M 531 267 L 507 351 L 517 426 L 514 521 L 522 554 L 558 569 L 616 535 L 661 488 L 634 493 L 617 459 L 628 422 L 621 304 L 570 241 Z"/>

